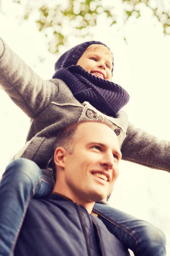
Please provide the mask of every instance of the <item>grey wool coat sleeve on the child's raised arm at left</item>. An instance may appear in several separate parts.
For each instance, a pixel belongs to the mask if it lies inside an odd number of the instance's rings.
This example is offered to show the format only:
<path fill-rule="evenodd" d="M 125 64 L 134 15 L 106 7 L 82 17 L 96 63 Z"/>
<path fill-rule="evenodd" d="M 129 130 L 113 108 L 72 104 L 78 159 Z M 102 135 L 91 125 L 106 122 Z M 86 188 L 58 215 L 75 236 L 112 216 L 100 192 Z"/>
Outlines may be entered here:
<path fill-rule="evenodd" d="M 2 39 L 0 86 L 31 118 L 42 112 L 58 94 L 57 84 L 41 79 Z"/>

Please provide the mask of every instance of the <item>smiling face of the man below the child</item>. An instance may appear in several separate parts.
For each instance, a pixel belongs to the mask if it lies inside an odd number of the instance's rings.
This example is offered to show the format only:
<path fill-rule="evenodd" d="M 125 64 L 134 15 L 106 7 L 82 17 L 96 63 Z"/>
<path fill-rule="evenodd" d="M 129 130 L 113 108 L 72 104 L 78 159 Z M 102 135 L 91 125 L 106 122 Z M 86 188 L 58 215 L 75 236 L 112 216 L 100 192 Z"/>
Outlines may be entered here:
<path fill-rule="evenodd" d="M 65 157 L 66 188 L 81 200 L 100 201 L 112 191 L 121 151 L 116 134 L 107 125 L 84 123 L 77 128 L 73 152 Z"/>

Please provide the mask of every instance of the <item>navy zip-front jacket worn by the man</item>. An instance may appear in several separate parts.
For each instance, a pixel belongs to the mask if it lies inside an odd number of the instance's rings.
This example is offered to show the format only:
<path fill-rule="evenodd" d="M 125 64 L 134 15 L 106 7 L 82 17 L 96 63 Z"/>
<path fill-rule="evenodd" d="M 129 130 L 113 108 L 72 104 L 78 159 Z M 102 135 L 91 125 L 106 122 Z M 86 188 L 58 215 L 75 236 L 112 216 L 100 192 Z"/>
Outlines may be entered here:
<path fill-rule="evenodd" d="M 60 195 L 31 199 L 15 256 L 128 256 L 99 218 Z"/>

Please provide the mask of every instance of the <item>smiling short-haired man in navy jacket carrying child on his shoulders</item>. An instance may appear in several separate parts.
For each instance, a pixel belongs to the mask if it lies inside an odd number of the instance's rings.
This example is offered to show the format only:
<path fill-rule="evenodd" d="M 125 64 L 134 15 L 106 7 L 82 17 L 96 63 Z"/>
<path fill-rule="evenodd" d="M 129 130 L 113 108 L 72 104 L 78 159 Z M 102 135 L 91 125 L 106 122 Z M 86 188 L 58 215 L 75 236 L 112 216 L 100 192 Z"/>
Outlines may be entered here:
<path fill-rule="evenodd" d="M 119 175 L 122 157 L 114 131 L 80 122 L 55 143 L 56 183 L 45 199 L 32 199 L 15 256 L 126 256 L 127 249 L 91 214 Z"/>

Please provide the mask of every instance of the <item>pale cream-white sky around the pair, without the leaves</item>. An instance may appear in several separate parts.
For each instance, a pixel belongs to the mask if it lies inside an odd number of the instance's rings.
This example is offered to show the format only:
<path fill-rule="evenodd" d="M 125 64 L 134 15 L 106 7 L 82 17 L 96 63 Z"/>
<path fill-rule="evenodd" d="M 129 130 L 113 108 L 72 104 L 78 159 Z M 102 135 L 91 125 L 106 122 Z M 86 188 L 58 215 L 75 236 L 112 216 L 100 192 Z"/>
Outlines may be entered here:
<path fill-rule="evenodd" d="M 47 51 L 44 35 L 38 32 L 32 20 L 19 26 L 12 5 L 2 7 L 8 12 L 6 16 L 0 14 L 0 37 L 39 76 L 50 79 L 57 57 Z M 19 11 L 22 9 L 17 9 L 17 13 Z M 100 17 L 91 40 L 102 41 L 113 52 L 113 81 L 130 94 L 130 102 L 125 107 L 129 120 L 159 139 L 170 140 L 170 37 L 164 38 L 159 23 L 152 25 L 149 13 L 136 23 L 130 20 L 123 29 L 117 29 L 116 26 L 109 28 L 105 17 Z M 70 47 L 77 44 L 75 38 L 71 44 Z M 39 57 L 45 61 L 40 63 Z M 8 161 L 25 143 L 29 119 L 2 90 L 0 116 L 2 175 Z M 169 173 L 122 161 L 110 200 L 111 206 L 160 227 L 167 236 L 167 256 L 170 256 L 169 186 Z"/>

